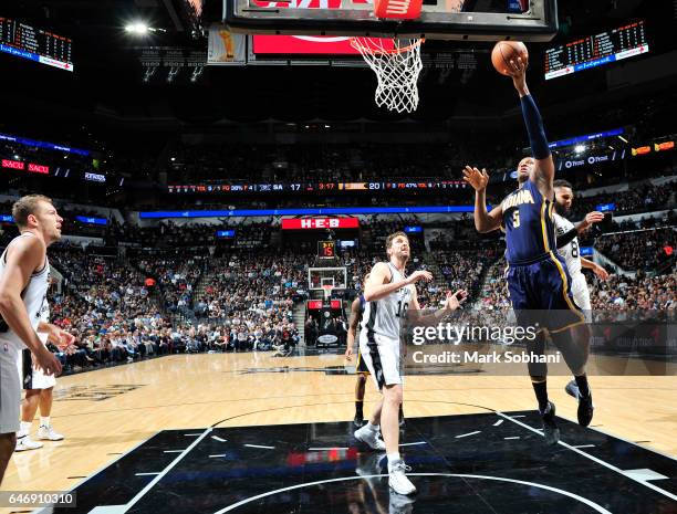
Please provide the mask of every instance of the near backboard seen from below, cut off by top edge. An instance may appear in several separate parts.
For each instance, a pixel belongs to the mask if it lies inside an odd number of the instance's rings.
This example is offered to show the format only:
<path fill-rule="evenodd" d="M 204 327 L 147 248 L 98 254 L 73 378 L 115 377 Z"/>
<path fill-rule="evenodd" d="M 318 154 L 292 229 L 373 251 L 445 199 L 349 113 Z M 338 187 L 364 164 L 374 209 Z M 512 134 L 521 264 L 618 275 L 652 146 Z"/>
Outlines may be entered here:
<path fill-rule="evenodd" d="M 410 21 L 376 19 L 372 0 L 223 0 L 223 22 L 246 33 L 462 41 L 550 41 L 558 31 L 556 0 L 424 0 Z"/>

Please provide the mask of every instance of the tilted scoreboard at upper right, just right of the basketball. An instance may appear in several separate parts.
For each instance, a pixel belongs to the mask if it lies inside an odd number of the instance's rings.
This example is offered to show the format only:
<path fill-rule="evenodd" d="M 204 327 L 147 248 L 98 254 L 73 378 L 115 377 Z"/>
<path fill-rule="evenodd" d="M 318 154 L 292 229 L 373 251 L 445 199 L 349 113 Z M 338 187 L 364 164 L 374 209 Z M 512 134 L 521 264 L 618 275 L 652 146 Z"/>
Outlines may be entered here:
<path fill-rule="evenodd" d="M 545 80 L 648 52 L 644 21 L 589 35 L 545 51 Z"/>

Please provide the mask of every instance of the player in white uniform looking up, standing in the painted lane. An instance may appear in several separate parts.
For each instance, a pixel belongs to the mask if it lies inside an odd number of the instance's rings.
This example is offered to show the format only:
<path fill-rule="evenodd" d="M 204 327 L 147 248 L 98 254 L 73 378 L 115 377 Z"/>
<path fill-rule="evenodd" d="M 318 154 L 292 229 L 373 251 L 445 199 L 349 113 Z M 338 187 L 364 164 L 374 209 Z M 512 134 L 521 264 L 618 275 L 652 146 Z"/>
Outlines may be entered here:
<path fill-rule="evenodd" d="M 364 287 L 365 311 L 360 332 L 360 352 L 383 398 L 375 407 L 369 421 L 355 431 L 355 439 L 374 450 L 385 450 L 388 458 L 388 484 L 398 494 L 413 494 L 416 487 L 405 475 L 406 464 L 399 455 L 398 411 L 402 403 L 400 321 L 407 311 L 415 313 L 417 323 L 436 323 L 458 308 L 467 296 L 461 290 L 448 293 L 445 306 L 425 318 L 419 317 L 420 306 L 416 296 L 416 282 L 429 282 L 433 275 L 416 271 L 406 276 L 409 260 L 409 239 L 404 232 L 395 232 L 386 239 L 388 262 L 379 262 L 369 272 Z M 409 318 L 413 316 L 409 315 Z M 378 439 L 378 428 L 383 439 Z"/>

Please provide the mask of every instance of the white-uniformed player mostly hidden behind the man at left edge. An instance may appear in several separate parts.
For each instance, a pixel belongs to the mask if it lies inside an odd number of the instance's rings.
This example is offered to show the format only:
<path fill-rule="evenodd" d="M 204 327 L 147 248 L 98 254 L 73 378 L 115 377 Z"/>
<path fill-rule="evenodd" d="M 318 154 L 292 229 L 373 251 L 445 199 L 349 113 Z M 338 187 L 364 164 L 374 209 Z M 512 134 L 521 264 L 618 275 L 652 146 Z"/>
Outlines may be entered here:
<path fill-rule="evenodd" d="M 40 325 L 38 325 L 38 336 L 42 344 L 48 340 L 58 346 L 69 346 L 73 344 L 75 337 L 50 323 L 50 304 L 46 298 L 40 310 Z M 25 398 L 21 405 L 21 427 L 17 432 L 17 450 L 35 450 L 42 448 L 42 443 L 31 439 L 31 424 L 38 407 L 40 407 L 40 427 L 38 428 L 38 439 L 42 441 L 61 441 L 63 436 L 55 432 L 52 428 L 50 415 L 56 377 L 45 375 L 44 371 L 33 366 L 32 354 L 24 348 L 19 358 L 19 374 L 22 377 Z"/>

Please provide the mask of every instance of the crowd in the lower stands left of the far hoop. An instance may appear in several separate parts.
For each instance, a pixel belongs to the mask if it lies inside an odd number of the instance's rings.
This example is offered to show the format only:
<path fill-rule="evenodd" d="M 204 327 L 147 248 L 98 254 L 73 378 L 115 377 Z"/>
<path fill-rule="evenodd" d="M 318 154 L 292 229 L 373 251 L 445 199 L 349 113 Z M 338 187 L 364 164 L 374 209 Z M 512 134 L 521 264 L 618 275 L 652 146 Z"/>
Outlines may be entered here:
<path fill-rule="evenodd" d="M 270 277 L 268 282 L 252 276 L 261 271 L 252 255 L 233 255 L 219 262 L 226 265 L 226 273 L 215 262 L 209 285 L 200 291 L 204 296 L 197 303 L 200 308 L 209 302 L 208 316 L 201 321 L 173 316 L 176 305 L 187 308 L 189 304 L 189 281 L 204 264 L 197 258 L 185 262 L 148 259 L 132 265 L 62 244 L 50 249 L 50 256 L 51 264 L 64 276 L 61 292 L 51 294 L 51 318 L 76 338 L 63 352 L 53 348 L 66 371 L 178 352 L 289 349 L 299 343 L 292 321 L 293 300 L 288 294 L 292 285 L 300 284 L 299 274 L 288 274 L 291 268 L 272 263 L 272 255 L 268 261 L 272 273 L 261 272 L 261 277 Z M 158 290 L 158 297 L 178 297 L 178 304 L 158 305 L 154 286 L 147 286 L 148 275 L 156 275 L 165 286 Z M 209 306 L 216 308 L 209 311 Z"/>

